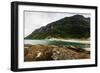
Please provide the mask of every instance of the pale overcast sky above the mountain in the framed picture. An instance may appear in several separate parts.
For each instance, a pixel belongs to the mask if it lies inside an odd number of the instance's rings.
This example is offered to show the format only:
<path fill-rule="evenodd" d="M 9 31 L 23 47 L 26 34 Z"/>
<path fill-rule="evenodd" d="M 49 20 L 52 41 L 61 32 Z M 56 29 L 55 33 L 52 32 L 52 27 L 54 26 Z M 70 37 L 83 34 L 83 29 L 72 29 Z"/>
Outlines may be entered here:
<path fill-rule="evenodd" d="M 77 13 L 79 14 L 79 13 Z M 45 26 L 48 23 L 57 21 L 64 17 L 70 17 L 76 15 L 75 13 L 55 13 L 55 12 L 30 12 L 24 11 L 24 37 L 31 34 L 35 29 L 40 28 L 41 26 Z M 79 14 L 84 17 L 90 17 L 89 14 Z"/>

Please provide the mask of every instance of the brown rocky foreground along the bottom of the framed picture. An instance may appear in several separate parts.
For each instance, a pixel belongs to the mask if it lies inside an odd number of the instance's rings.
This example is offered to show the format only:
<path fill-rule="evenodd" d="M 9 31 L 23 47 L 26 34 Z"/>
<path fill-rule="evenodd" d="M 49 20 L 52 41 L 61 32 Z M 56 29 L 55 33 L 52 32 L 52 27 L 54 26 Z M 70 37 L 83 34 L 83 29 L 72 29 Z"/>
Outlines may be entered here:
<path fill-rule="evenodd" d="M 24 61 L 89 59 L 90 52 L 75 46 L 30 45 L 24 46 Z"/>

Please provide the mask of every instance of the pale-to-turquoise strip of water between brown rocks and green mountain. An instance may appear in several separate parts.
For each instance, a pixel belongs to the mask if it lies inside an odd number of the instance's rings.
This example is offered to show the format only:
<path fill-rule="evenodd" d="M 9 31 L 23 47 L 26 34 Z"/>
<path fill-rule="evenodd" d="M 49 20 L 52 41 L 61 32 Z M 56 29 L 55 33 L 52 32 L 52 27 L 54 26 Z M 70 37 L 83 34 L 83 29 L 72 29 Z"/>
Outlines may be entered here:
<path fill-rule="evenodd" d="M 42 44 L 42 45 L 64 45 L 64 46 L 77 46 L 80 48 L 87 48 L 88 44 L 83 44 L 83 43 L 76 43 L 76 42 L 66 42 L 66 41 L 56 41 L 56 40 L 25 40 L 25 44 L 32 44 L 32 45 L 37 45 L 37 44 Z M 89 45 L 88 45 L 89 47 Z"/>

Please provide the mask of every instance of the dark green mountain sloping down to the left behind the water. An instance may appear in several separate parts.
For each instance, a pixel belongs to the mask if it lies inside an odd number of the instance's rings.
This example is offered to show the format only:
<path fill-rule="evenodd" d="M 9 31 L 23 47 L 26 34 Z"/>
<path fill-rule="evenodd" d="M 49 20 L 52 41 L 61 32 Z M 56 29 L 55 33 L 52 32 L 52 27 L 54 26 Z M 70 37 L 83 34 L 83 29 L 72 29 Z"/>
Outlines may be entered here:
<path fill-rule="evenodd" d="M 90 37 L 90 18 L 82 15 L 64 17 L 46 26 L 36 29 L 25 39 L 46 38 L 75 38 L 86 39 Z"/>

